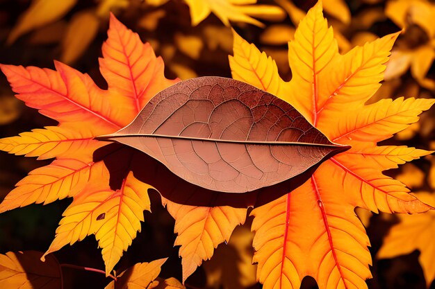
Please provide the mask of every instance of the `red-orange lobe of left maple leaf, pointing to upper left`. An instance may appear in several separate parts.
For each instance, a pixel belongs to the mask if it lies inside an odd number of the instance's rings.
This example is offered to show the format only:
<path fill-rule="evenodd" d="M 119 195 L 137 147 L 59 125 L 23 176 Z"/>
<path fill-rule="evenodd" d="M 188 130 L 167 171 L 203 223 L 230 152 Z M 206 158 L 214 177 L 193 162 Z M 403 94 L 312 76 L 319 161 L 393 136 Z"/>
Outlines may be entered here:
<path fill-rule="evenodd" d="M 117 107 L 107 107 L 111 94 L 99 89 L 87 74 L 60 62 L 56 71 L 38 67 L 1 65 L 17 98 L 41 114 L 73 126 L 77 132 L 93 136 L 113 132 L 124 126 Z M 87 125 L 79 125 L 87 123 Z"/>

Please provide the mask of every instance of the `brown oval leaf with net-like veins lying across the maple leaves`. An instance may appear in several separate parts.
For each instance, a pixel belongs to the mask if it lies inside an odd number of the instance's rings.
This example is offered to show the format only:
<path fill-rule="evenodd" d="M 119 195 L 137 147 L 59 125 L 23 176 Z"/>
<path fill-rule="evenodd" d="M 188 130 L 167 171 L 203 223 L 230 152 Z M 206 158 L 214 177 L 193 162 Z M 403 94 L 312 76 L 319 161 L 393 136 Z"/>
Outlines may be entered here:
<path fill-rule="evenodd" d="M 217 77 L 161 91 L 130 125 L 98 139 L 142 150 L 186 181 L 227 193 L 278 184 L 348 148 L 284 100 Z"/>

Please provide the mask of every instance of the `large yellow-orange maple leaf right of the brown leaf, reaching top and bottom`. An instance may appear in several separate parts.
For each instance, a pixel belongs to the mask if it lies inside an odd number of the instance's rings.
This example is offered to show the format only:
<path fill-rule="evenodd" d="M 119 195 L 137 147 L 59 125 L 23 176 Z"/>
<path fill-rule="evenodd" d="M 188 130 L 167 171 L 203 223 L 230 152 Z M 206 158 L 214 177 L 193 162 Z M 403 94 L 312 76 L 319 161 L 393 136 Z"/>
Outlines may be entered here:
<path fill-rule="evenodd" d="M 293 78 L 285 82 L 272 58 L 234 33 L 233 78 L 288 101 L 331 141 L 352 146 L 325 161 L 295 191 L 252 211 L 254 262 L 263 288 L 299 288 L 307 275 L 320 289 L 367 288 L 370 242 L 355 207 L 388 213 L 431 209 L 381 173 L 430 152 L 377 142 L 418 121 L 434 100 L 364 105 L 380 86 L 397 35 L 340 55 L 318 3 L 289 43 Z"/>

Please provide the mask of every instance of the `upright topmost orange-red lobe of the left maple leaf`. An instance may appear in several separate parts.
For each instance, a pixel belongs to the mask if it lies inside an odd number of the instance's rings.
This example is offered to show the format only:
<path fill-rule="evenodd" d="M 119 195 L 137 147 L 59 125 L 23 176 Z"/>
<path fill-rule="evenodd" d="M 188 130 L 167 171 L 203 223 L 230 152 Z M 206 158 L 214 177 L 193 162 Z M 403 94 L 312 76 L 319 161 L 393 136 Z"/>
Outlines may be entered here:
<path fill-rule="evenodd" d="M 100 71 L 109 90 L 117 91 L 129 100 L 120 113 L 131 119 L 152 96 L 179 80 L 165 78 L 163 60 L 156 58 L 149 43 L 143 44 L 139 35 L 127 29 L 113 14 L 107 33 L 108 40 L 101 48 Z M 111 108 L 117 105 L 116 99 L 110 103 Z"/>

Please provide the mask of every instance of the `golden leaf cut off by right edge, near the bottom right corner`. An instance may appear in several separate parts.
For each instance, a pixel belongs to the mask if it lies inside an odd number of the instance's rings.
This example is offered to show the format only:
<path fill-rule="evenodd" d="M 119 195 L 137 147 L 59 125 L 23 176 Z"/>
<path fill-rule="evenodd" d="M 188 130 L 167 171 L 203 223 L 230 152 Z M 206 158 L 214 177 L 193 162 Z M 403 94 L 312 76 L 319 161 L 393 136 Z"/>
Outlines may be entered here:
<path fill-rule="evenodd" d="M 416 196 L 428 204 L 435 205 L 433 193 L 420 192 Z M 395 256 L 410 254 L 414 250 L 420 250 L 418 260 L 425 274 L 426 284 L 429 288 L 435 279 L 435 212 L 429 211 L 409 216 L 398 215 L 400 222 L 391 227 L 384 243 L 377 252 L 378 259 L 393 258 Z"/>

